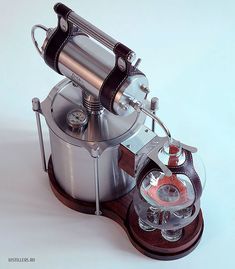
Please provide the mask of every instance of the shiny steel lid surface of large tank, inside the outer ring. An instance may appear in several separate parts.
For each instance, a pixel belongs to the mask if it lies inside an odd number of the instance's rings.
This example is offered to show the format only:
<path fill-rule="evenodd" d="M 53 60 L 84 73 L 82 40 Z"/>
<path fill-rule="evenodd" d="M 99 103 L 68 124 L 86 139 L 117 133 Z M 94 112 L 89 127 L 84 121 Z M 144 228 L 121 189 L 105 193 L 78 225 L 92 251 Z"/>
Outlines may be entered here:
<path fill-rule="evenodd" d="M 56 94 L 51 104 L 52 117 L 58 127 L 69 136 L 83 141 L 101 142 L 118 138 L 128 132 L 139 115 L 136 111 L 126 117 L 116 116 L 107 110 L 98 114 L 91 113 L 86 130 L 83 133 L 72 132 L 71 128 L 68 128 L 66 115 L 83 103 L 81 89 L 69 84 Z"/>

